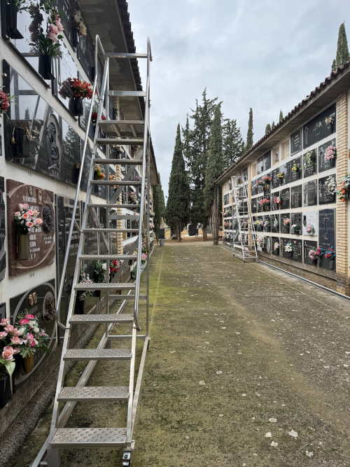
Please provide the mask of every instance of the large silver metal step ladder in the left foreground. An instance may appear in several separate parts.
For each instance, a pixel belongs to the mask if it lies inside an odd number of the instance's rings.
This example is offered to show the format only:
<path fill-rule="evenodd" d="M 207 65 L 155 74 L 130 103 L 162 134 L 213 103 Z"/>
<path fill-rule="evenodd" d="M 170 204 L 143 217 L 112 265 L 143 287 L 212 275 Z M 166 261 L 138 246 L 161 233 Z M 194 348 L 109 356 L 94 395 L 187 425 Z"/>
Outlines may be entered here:
<path fill-rule="evenodd" d="M 99 36 L 95 40 L 95 66 L 98 66 L 97 48 L 102 51 L 100 56 L 104 57 L 104 74 L 102 78 L 101 92 L 97 89 L 97 73 L 94 79 L 93 96 L 95 91 L 98 95 L 98 112 L 97 123 L 94 132 L 94 143 L 92 147 L 92 158 L 90 165 L 90 174 L 87 183 L 87 193 L 85 209 L 83 213 L 82 227 L 80 229 L 80 242 L 78 246 L 78 256 L 76 260 L 76 268 L 73 276 L 73 287 L 71 290 L 71 298 L 69 302 L 69 310 L 67 314 L 66 324 L 59 321 L 59 305 L 62 297 L 64 286 L 64 276 L 66 273 L 66 265 L 69 256 L 69 245 L 73 232 L 73 219 L 76 216 L 76 208 L 78 204 L 78 192 L 76 192 L 76 200 L 73 207 L 71 229 L 69 231 L 68 246 L 66 249 L 66 257 L 64 258 L 64 267 L 62 271 L 62 279 L 59 285 L 59 293 L 56 307 L 56 321 L 59 328 L 64 329 L 64 338 L 62 344 L 62 357 L 59 365 L 59 375 L 57 381 L 57 391 L 55 394 L 54 408 L 52 413 L 52 423 L 50 428 L 50 435 L 45 444 L 41 448 L 38 456 L 31 463 L 32 467 L 36 466 L 49 466 L 59 467 L 60 465 L 60 449 L 62 448 L 101 448 L 101 447 L 121 447 L 123 448 L 123 459 L 121 459 L 121 466 L 130 466 L 132 451 L 134 449 L 133 430 L 135 417 L 137 412 L 137 403 L 139 400 L 139 392 L 141 388 L 142 373 L 144 370 L 144 361 L 146 358 L 146 351 L 149 344 L 148 335 L 148 287 L 149 287 L 149 273 L 148 263 L 146 265 L 146 294 L 140 295 L 140 275 L 141 275 L 141 253 L 142 243 L 146 242 L 148 245 L 149 256 L 149 225 L 150 225 L 150 158 L 151 158 L 151 136 L 149 129 L 149 110 L 150 110 L 150 62 L 151 58 L 151 44 L 147 41 L 147 53 L 104 53 L 102 43 L 99 41 Z M 116 91 L 109 90 L 109 66 L 113 59 L 137 59 L 144 58 L 147 60 L 147 81 L 146 91 Z M 97 68 L 96 68 L 97 69 Z M 129 97 L 130 99 L 144 99 L 145 100 L 145 115 L 144 120 L 109 120 L 109 99 L 113 97 Z M 103 112 L 107 109 L 106 120 L 102 118 Z M 90 127 L 92 117 L 92 105 L 90 108 L 89 119 L 87 122 L 87 129 Z M 104 136 L 101 137 L 101 131 Z M 106 158 L 98 157 L 97 148 L 101 145 L 106 145 Z M 120 148 L 120 145 L 140 145 L 140 150 L 135 158 L 111 158 L 111 149 Z M 118 145 L 118 146 L 116 146 Z M 78 178 L 78 187 L 83 175 L 83 165 L 85 160 L 85 153 L 88 146 L 88 130 L 85 136 L 83 147 L 83 155 L 80 165 L 80 174 Z M 141 155 L 140 155 L 141 153 Z M 126 152 L 125 152 L 125 155 Z M 130 156 L 130 155 L 129 155 Z M 105 167 L 105 179 L 94 179 L 95 164 Z M 110 165 L 123 165 L 126 167 L 126 173 L 122 180 L 109 179 L 109 166 Z M 142 167 L 141 180 L 135 181 L 134 169 L 135 167 Z M 91 195 L 94 194 L 95 186 L 104 186 L 106 189 L 106 200 L 102 203 L 92 202 Z M 113 191 L 110 188 L 113 188 Z M 117 188 L 116 188 L 117 186 Z M 139 186 L 141 197 L 137 204 L 134 204 L 134 199 L 129 199 L 128 190 L 125 193 L 123 189 L 130 186 Z M 120 203 L 120 197 L 122 203 Z M 99 218 L 98 209 L 104 208 L 106 210 L 106 224 L 102 225 Z M 124 214 L 125 211 L 132 209 L 132 213 Z M 138 211 L 138 213 L 136 212 Z M 92 225 L 92 220 L 94 225 Z M 138 228 L 122 228 L 123 221 L 134 221 L 138 223 Z M 131 224 L 132 222 L 130 222 Z M 85 242 L 87 235 L 94 232 L 99 237 L 99 242 L 104 245 L 104 254 L 85 254 Z M 127 251 L 123 251 L 123 255 L 113 253 L 115 249 L 116 237 L 118 234 L 134 234 L 135 241 L 127 246 Z M 123 242 L 123 235 L 121 242 Z M 114 242 L 112 242 L 112 238 Z M 113 248 L 114 247 L 114 248 Z M 137 255 L 134 251 L 137 248 Z M 80 274 L 83 272 L 84 267 L 91 262 L 97 260 L 106 263 L 106 274 L 104 282 L 94 282 L 93 284 L 82 284 L 79 282 Z M 116 276 L 110 279 L 109 274 L 109 261 L 110 260 L 124 260 L 123 265 L 120 267 Z M 123 272 L 127 270 L 130 260 L 136 260 L 137 275 L 134 283 L 119 282 Z M 104 302 L 104 314 L 74 314 L 75 302 L 77 293 L 82 291 L 101 291 L 102 302 Z M 118 295 L 122 291 L 127 291 L 127 294 Z M 111 300 L 123 300 L 117 312 L 111 313 Z M 123 308 L 127 302 L 132 300 L 134 302 L 134 311 L 132 314 L 122 313 Z M 138 322 L 139 300 L 146 300 L 146 333 L 140 334 L 141 330 Z M 99 323 L 105 326 L 104 335 L 101 342 L 99 342 L 96 349 L 76 349 L 70 348 L 71 330 L 76 324 L 91 324 Z M 130 327 L 127 334 L 116 335 L 113 333 L 117 324 L 125 324 Z M 114 327 L 114 328 L 113 328 Z M 137 340 L 144 340 L 144 347 L 141 356 L 141 363 L 137 375 L 137 382 L 135 384 L 135 354 Z M 112 349 L 111 341 L 121 340 L 127 343 L 123 345 L 123 349 Z M 90 377 L 95 365 L 99 361 L 121 361 L 126 360 L 130 362 L 130 371 L 128 375 L 128 386 L 87 386 L 88 378 Z M 64 386 L 64 377 L 66 375 L 66 363 L 69 361 L 87 361 L 88 364 L 81 375 L 79 382 L 76 386 Z M 127 421 L 125 426 L 109 428 L 85 428 L 76 426 L 75 428 L 64 428 L 69 419 L 74 405 L 80 403 L 104 403 L 105 401 L 125 400 L 127 402 Z M 59 413 L 59 404 L 65 403 L 64 408 Z M 107 421 L 112 424 L 113 420 Z"/>

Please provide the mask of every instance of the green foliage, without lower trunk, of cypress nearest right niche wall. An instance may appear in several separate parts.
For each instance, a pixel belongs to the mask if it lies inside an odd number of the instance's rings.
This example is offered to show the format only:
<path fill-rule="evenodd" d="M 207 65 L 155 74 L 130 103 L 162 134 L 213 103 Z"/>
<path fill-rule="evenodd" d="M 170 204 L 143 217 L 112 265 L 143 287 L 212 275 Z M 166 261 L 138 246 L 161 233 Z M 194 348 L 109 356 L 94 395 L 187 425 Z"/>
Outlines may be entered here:
<path fill-rule="evenodd" d="M 215 190 L 218 190 L 216 179 L 223 173 L 223 132 L 221 127 L 221 105 L 216 106 L 214 120 L 211 128 L 210 149 L 205 172 L 204 207 L 211 213 L 214 203 Z"/>

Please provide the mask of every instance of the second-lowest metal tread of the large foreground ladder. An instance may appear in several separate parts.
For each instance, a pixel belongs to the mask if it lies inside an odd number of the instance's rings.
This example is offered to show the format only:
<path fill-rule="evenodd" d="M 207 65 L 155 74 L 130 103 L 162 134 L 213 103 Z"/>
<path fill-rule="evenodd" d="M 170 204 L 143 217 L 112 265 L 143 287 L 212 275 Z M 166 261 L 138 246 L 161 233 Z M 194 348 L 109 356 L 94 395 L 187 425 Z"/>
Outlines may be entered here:
<path fill-rule="evenodd" d="M 127 386 L 85 386 L 65 387 L 59 393 L 57 400 L 127 400 L 129 388 Z"/>

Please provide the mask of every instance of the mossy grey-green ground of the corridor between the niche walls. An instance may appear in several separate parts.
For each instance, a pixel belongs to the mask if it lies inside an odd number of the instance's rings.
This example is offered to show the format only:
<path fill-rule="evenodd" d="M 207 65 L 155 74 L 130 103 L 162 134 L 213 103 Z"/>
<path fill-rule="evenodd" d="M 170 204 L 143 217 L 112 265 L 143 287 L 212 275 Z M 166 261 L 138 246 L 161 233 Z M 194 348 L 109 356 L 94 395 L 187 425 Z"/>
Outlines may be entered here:
<path fill-rule="evenodd" d="M 150 292 L 133 467 L 350 465 L 349 302 L 211 242 L 156 248 Z M 116 426 L 113 407 L 80 407 L 75 422 Z M 119 461 L 111 449 L 62 454 L 63 467 Z"/>

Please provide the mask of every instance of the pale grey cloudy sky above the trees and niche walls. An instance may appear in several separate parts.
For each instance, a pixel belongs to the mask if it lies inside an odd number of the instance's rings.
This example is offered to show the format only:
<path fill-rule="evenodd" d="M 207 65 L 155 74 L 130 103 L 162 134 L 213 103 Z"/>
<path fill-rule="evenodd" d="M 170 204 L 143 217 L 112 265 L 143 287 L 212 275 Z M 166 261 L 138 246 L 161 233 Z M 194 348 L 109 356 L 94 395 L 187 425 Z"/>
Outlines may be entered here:
<path fill-rule="evenodd" d="M 151 38 L 151 134 L 165 195 L 176 126 L 205 87 L 244 139 L 253 108 L 255 143 L 280 109 L 286 115 L 329 76 L 343 21 L 350 44 L 349 0 L 128 3 L 137 51 Z"/>

